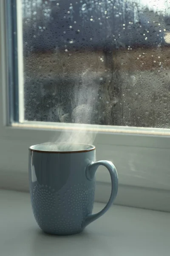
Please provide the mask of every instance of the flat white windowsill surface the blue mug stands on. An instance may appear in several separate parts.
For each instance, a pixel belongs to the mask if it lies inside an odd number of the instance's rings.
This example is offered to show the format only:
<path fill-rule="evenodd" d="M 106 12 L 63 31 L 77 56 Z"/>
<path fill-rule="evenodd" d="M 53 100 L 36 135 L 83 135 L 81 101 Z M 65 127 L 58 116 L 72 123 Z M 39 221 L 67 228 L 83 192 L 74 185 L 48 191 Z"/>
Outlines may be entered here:
<path fill-rule="evenodd" d="M 95 203 L 98 212 L 104 204 Z M 170 253 L 170 213 L 113 206 L 74 236 L 49 236 L 37 226 L 28 193 L 0 190 L 0 255 L 160 256 Z"/>

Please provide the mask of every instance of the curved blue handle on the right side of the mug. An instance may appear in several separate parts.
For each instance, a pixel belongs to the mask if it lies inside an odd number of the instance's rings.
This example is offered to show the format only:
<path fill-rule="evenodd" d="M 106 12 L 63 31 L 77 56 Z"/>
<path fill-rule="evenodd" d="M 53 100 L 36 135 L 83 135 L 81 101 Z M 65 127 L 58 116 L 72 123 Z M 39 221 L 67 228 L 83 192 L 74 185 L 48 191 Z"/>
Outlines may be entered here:
<path fill-rule="evenodd" d="M 86 227 L 88 224 L 95 221 L 97 218 L 101 217 L 105 212 L 107 212 L 113 204 L 113 201 L 116 198 L 118 192 L 118 174 L 116 171 L 116 167 L 110 161 L 102 160 L 95 163 L 90 163 L 86 168 L 86 177 L 88 178 L 88 180 L 92 180 L 97 168 L 101 165 L 105 166 L 111 175 L 111 196 L 109 198 L 108 204 L 106 204 L 106 206 L 100 212 L 90 214 L 86 217 L 83 227 Z"/>

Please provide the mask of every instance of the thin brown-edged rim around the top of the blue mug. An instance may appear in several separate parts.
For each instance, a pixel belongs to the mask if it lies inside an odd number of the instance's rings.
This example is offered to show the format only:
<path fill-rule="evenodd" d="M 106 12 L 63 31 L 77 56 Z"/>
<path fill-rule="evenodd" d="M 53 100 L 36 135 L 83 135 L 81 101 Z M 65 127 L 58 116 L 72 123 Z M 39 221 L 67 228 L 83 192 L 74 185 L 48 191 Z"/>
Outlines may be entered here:
<path fill-rule="evenodd" d="M 55 154 L 69 154 L 69 153 L 83 153 L 83 152 L 89 152 L 89 151 L 93 151 L 96 149 L 96 147 L 94 145 L 91 144 L 85 144 L 85 143 L 73 143 L 74 145 L 86 145 L 87 149 L 80 149 L 80 150 L 65 150 L 65 151 L 51 151 L 51 150 L 41 150 L 41 149 L 36 149 L 36 146 L 40 146 L 40 145 L 59 145 L 59 144 L 71 144 L 71 143 L 41 143 L 41 144 L 37 144 L 37 145 L 32 145 L 28 148 L 29 151 L 33 151 L 33 152 L 39 152 L 39 153 L 55 153 Z"/>

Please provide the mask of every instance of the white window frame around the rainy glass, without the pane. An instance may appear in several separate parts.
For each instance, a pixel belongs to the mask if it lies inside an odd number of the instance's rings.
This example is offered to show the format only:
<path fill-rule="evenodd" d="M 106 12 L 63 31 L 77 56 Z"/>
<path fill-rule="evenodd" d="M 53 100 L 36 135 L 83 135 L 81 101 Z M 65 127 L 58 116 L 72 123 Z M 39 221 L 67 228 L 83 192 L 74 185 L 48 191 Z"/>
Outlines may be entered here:
<path fill-rule="evenodd" d="M 8 63 L 5 0 L 0 1 L 0 188 L 28 191 L 28 147 L 82 125 L 24 122 L 8 125 Z M 22 78 L 21 80 L 22 81 Z M 111 160 L 119 174 L 115 203 L 170 211 L 170 130 L 88 125 L 95 133 L 97 160 Z M 107 202 L 111 181 L 96 174 L 96 201 Z"/>

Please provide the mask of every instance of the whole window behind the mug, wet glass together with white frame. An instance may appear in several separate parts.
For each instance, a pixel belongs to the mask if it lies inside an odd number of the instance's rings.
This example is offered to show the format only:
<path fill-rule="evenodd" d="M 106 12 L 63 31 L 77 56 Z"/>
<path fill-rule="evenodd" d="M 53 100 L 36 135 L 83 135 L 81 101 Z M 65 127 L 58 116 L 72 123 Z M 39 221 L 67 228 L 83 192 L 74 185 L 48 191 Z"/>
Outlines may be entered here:
<path fill-rule="evenodd" d="M 28 146 L 76 131 L 116 165 L 118 203 L 140 206 L 134 193 L 149 198 L 143 207 L 167 210 L 169 8 L 161 0 L 0 3 L 3 180 L 8 171 L 25 184 Z M 107 201 L 103 169 L 97 180 Z"/>

